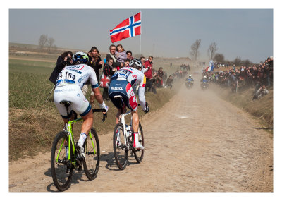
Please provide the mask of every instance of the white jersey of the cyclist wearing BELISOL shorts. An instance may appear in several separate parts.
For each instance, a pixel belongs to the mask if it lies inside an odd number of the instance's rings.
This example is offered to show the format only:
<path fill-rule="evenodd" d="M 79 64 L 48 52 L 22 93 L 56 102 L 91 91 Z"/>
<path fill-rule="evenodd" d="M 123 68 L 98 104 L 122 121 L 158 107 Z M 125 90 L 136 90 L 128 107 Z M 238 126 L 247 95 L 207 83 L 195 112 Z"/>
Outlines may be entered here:
<path fill-rule="evenodd" d="M 139 85 L 139 87 L 145 87 L 146 77 L 141 71 L 131 68 L 123 67 L 116 71 L 114 75 L 111 76 L 111 80 L 127 80 L 131 85 Z"/>

